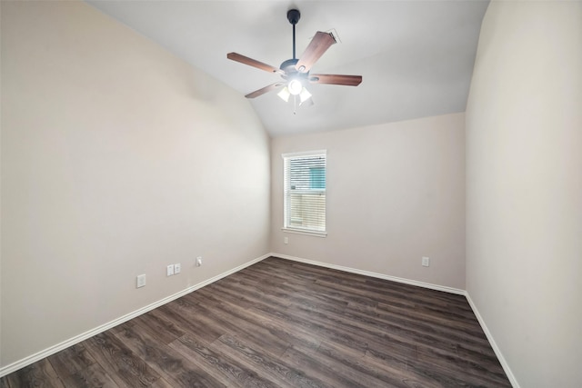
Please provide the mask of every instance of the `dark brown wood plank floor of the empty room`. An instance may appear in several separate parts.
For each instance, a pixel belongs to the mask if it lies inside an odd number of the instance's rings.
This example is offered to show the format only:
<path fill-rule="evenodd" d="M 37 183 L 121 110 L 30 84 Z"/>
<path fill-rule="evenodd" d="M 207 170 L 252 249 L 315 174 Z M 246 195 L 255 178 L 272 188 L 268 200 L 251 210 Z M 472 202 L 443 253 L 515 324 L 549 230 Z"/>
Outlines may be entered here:
<path fill-rule="evenodd" d="M 0 386 L 511 385 L 464 296 L 268 258 Z"/>

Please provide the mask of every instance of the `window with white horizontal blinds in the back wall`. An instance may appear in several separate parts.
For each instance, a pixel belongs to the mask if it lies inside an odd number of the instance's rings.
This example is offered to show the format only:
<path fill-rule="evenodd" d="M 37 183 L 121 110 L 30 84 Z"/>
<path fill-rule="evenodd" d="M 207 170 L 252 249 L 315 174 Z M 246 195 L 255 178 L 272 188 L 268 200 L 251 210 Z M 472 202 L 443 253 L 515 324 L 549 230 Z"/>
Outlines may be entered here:
<path fill-rule="evenodd" d="M 326 151 L 283 154 L 283 161 L 283 228 L 326 235 Z"/>

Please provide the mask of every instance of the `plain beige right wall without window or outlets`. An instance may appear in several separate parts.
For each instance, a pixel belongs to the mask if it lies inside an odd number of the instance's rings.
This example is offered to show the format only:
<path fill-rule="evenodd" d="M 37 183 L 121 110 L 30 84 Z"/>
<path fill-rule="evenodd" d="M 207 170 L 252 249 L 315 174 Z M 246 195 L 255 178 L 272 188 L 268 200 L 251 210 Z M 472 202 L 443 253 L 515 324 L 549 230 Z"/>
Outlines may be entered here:
<path fill-rule="evenodd" d="M 582 383 L 582 2 L 493 2 L 467 105 L 467 291 L 523 387 Z"/>

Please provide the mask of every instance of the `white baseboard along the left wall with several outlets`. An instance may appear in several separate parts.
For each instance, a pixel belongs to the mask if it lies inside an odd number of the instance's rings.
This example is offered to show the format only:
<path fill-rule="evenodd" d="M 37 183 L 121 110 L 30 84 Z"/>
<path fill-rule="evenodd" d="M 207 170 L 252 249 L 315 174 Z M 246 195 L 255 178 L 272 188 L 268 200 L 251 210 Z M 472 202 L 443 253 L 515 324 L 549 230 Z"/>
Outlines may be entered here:
<path fill-rule="evenodd" d="M 98 333 L 103 333 L 106 330 L 109 330 L 118 324 L 125 323 L 125 322 L 135 318 L 136 316 L 139 316 L 143 313 L 147 313 L 148 311 L 154 310 L 155 308 L 157 308 L 161 305 L 164 305 L 168 302 L 172 302 L 172 301 L 176 300 L 177 298 L 186 295 L 186 293 L 192 293 L 193 291 L 196 291 L 197 289 L 202 288 L 205 285 L 215 283 L 216 281 L 222 279 L 223 277 L 226 277 L 229 274 L 235 274 L 236 272 L 246 268 L 249 265 L 253 265 L 253 264 L 256 264 L 262 260 L 265 260 L 269 256 L 271 256 L 271 254 L 265 254 L 265 255 L 258 257 L 254 260 L 251 260 L 248 263 L 241 264 L 241 265 L 237 266 L 236 268 L 233 268 L 229 271 L 226 271 L 225 273 L 217 274 L 216 276 L 214 276 L 210 279 L 207 279 L 204 282 L 192 285 L 192 286 L 186 288 L 185 290 L 180 291 L 179 293 L 174 293 L 173 295 L 167 296 L 164 299 L 160 299 L 159 301 L 157 301 L 155 303 L 148 304 L 145 307 L 142 307 L 138 310 L 135 310 L 135 312 L 127 313 L 124 316 L 121 316 L 121 317 L 119 317 L 111 322 L 97 326 L 94 329 L 91 329 L 85 333 L 81 333 L 79 335 L 76 335 L 75 337 L 70 338 L 62 343 L 57 343 L 57 344 L 55 344 L 55 345 L 53 345 L 53 346 L 51 346 L 51 347 L 49 347 L 41 352 L 29 355 L 29 356 L 23 358 L 22 360 L 16 361 L 15 363 L 10 363 L 10 364 L 0 368 L 0 377 L 5 376 L 6 374 L 9 374 L 9 373 L 13 373 L 21 368 L 24 368 L 25 366 L 30 365 L 31 363 L 36 363 L 37 361 L 40 361 L 43 358 L 48 357 L 49 355 L 58 353 L 64 349 L 68 348 L 69 346 L 73 346 L 75 343 L 80 343 L 82 341 L 85 341 L 86 339 L 91 338 L 92 336 L 94 336 Z"/>

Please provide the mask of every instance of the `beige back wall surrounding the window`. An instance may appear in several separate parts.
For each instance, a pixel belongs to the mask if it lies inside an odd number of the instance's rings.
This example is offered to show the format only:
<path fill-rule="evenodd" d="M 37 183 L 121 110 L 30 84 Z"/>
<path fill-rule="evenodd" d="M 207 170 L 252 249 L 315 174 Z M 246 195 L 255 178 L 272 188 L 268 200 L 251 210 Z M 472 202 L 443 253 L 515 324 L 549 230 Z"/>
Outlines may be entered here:
<path fill-rule="evenodd" d="M 274 138 L 273 252 L 465 289 L 464 130 L 465 115 L 448 114 Z M 320 149 L 327 150 L 328 235 L 284 233 L 281 154 Z"/>

